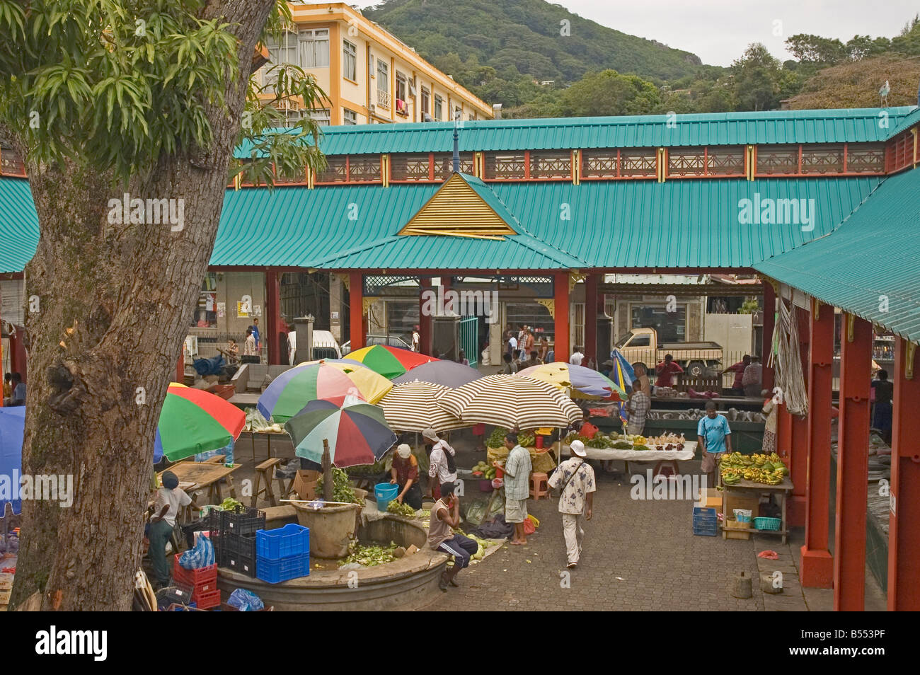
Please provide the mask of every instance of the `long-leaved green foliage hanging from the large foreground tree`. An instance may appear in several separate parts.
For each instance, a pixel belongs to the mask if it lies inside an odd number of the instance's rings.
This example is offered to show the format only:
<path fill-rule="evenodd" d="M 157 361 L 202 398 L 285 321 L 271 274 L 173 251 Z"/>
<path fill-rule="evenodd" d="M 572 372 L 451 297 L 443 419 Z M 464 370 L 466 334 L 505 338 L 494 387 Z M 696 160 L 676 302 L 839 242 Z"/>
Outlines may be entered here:
<path fill-rule="evenodd" d="M 69 158 L 121 182 L 165 156 L 206 151 L 241 64 L 235 27 L 202 18 L 205 8 L 203 0 L 38 0 L 26 11 L 0 0 L 0 126 L 31 161 Z M 266 28 L 289 18 L 279 0 Z M 279 81 L 276 99 L 311 105 L 325 96 L 302 71 Z M 321 168 L 315 123 L 270 131 L 280 116 L 249 83 L 240 140 L 252 138 L 257 157 L 247 169 L 270 183 L 270 162 L 282 173 Z"/>

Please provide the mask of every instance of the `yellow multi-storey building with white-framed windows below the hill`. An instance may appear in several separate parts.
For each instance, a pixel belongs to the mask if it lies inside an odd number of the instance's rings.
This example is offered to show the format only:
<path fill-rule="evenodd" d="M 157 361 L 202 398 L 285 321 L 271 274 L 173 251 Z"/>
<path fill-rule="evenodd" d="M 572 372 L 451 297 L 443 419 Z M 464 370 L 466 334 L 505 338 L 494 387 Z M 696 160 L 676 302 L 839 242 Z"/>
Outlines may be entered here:
<path fill-rule="evenodd" d="M 296 31 L 267 45 L 270 63 L 294 63 L 316 76 L 328 108 L 292 102 L 288 120 L 310 114 L 322 124 L 490 120 L 492 108 L 345 3 L 290 4 Z"/>

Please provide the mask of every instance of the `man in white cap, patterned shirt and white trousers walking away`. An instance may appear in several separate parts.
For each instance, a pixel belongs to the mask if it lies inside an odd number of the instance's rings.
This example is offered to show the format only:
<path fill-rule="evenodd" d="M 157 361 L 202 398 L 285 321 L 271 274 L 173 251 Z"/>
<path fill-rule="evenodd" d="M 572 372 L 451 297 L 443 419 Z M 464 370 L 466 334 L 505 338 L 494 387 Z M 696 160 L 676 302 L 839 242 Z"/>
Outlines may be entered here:
<path fill-rule="evenodd" d="M 581 440 L 573 440 L 572 457 L 556 467 L 549 476 L 550 487 L 561 487 L 559 513 L 562 514 L 562 533 L 566 538 L 566 557 L 569 568 L 578 566 L 584 540 L 583 521 L 590 521 L 594 503 L 594 470 L 584 461 L 587 452 Z"/>

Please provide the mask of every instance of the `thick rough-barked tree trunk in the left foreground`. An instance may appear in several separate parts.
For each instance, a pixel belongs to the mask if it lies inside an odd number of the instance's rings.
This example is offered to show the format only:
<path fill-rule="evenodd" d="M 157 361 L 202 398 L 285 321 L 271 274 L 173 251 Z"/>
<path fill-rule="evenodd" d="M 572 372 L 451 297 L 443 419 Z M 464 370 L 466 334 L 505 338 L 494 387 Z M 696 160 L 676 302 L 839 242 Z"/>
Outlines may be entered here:
<path fill-rule="evenodd" d="M 212 2 L 239 39 L 214 142 L 164 157 L 124 189 L 71 163 L 29 164 L 40 241 L 26 268 L 29 386 L 24 475 L 72 475 L 69 508 L 23 500 L 11 609 L 129 610 L 141 562 L 157 420 L 190 326 L 224 202 L 252 52 L 274 0 Z M 236 24 L 236 25 L 235 25 Z M 216 76 L 216 74 L 215 74 Z M 109 200 L 183 200 L 170 224 L 109 223 Z"/>

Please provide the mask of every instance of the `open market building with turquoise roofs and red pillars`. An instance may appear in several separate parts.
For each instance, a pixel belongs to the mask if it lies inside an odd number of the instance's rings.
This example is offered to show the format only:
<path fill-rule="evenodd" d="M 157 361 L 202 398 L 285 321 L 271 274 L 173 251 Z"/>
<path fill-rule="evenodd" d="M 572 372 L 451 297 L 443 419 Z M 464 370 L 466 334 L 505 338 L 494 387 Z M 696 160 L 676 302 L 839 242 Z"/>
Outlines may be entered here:
<path fill-rule="evenodd" d="M 558 358 L 575 346 L 599 358 L 614 319 L 629 325 L 621 303 L 654 300 L 610 275 L 757 275 L 759 344 L 784 345 L 764 383 L 786 395 L 777 452 L 795 485 L 789 522 L 806 532 L 803 585 L 833 586 L 838 609 L 862 608 L 875 326 L 894 346 L 889 608 L 920 609 L 918 125 L 916 107 L 474 120 L 459 130 L 459 171 L 451 123 L 329 127 L 327 171 L 273 192 L 227 189 L 190 332 L 216 344 L 261 315 L 267 358 L 281 363 L 281 334 L 307 313 L 351 346 L 417 323 L 426 353 L 454 357 L 494 350 L 503 326 L 526 323 L 551 336 Z M 28 181 L 9 161 L 4 283 L 21 280 L 38 240 Z M 703 320 L 703 307 L 684 304 L 685 326 Z"/>

